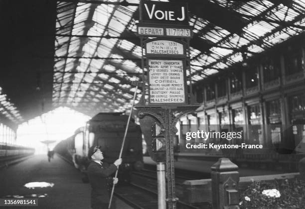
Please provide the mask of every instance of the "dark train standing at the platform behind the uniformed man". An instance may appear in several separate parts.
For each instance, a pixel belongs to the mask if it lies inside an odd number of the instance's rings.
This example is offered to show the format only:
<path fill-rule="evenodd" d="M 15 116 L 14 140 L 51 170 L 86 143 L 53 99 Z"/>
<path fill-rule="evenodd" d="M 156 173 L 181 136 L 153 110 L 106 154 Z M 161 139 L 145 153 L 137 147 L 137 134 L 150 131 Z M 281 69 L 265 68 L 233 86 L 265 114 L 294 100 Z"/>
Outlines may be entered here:
<path fill-rule="evenodd" d="M 85 127 L 78 128 L 69 138 L 58 143 L 54 151 L 73 162 L 75 168 L 84 173 L 89 165 L 88 149 L 101 146 L 104 162 L 113 163 L 119 157 L 128 115 L 121 112 L 102 112 L 92 117 Z M 129 182 L 132 170 L 143 168 L 142 133 L 140 126 L 131 119 L 122 154 L 119 178 Z"/>

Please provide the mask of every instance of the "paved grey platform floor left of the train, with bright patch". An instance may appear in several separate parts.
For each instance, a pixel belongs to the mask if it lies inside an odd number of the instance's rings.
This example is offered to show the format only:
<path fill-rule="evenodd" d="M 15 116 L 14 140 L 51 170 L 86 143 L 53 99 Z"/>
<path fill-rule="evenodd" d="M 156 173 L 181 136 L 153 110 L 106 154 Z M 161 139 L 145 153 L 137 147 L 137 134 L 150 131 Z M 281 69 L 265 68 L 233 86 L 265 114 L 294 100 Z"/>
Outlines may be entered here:
<path fill-rule="evenodd" d="M 45 196 L 38 199 L 38 207 L 9 209 L 90 209 L 90 185 L 82 183 L 81 177 L 78 170 L 56 155 L 51 162 L 48 162 L 46 155 L 34 155 L 25 161 L 0 169 L 0 198 Z M 28 189 L 24 185 L 29 182 L 47 182 L 54 185 Z M 118 199 L 116 204 L 117 209 L 132 209 Z"/>

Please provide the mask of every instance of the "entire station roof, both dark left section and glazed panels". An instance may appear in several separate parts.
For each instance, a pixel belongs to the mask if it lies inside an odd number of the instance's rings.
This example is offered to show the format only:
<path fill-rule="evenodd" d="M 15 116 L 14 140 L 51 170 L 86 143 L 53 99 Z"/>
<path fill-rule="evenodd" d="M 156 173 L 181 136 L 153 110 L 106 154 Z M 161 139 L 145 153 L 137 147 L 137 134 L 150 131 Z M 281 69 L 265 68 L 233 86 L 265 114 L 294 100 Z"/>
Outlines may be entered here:
<path fill-rule="evenodd" d="M 185 1 L 194 83 L 304 36 L 304 0 Z M 1 117 L 19 124 L 58 106 L 90 116 L 130 108 L 132 82 L 142 81 L 138 3 L 1 0 Z"/>

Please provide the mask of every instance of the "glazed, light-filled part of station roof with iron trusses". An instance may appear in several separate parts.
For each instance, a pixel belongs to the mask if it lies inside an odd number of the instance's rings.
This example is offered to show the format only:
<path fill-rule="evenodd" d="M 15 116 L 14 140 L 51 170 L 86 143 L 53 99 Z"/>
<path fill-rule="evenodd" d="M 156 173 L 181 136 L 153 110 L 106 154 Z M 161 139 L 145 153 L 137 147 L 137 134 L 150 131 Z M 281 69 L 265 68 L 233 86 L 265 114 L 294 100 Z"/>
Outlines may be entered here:
<path fill-rule="evenodd" d="M 139 0 L 75 2 L 57 2 L 53 104 L 89 115 L 124 111 L 134 95 L 132 82 L 142 81 Z M 305 29 L 303 0 L 187 2 L 194 32 L 187 76 L 194 82 Z"/>

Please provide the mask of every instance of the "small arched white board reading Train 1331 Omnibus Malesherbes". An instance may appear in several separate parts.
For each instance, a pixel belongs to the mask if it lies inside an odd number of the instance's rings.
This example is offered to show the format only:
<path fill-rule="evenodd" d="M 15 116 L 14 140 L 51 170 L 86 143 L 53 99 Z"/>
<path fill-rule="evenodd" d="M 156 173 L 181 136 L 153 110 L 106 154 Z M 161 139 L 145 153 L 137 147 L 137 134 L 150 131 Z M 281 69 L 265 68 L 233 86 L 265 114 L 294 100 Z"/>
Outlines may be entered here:
<path fill-rule="evenodd" d="M 155 40 L 146 44 L 147 54 L 183 55 L 183 44 L 169 40 Z"/>

